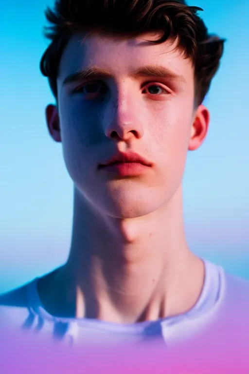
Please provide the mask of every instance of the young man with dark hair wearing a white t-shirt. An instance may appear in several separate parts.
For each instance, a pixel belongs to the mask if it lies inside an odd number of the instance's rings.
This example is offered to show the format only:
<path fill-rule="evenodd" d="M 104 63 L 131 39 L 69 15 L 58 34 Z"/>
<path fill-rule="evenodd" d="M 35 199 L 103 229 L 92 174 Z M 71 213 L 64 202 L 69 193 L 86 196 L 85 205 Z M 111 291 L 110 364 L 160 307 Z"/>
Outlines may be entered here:
<path fill-rule="evenodd" d="M 248 283 L 194 255 L 184 234 L 186 155 L 206 137 L 202 102 L 224 42 L 198 10 L 167 0 L 47 10 L 41 71 L 74 184 L 71 249 L 64 266 L 1 297 L 2 320 L 74 344 L 170 345 L 214 330 L 226 340 L 227 326 L 235 341 L 249 336 Z"/>

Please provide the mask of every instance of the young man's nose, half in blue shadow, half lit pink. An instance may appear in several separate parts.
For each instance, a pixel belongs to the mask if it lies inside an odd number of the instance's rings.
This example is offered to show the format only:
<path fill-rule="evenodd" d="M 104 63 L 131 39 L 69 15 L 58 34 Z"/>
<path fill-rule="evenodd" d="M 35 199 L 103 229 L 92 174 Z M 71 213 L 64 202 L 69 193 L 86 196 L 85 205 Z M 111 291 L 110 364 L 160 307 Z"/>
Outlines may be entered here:
<path fill-rule="evenodd" d="M 143 136 L 142 108 L 139 98 L 136 99 L 127 91 L 118 93 L 109 103 L 103 120 L 108 138 L 129 141 Z"/>

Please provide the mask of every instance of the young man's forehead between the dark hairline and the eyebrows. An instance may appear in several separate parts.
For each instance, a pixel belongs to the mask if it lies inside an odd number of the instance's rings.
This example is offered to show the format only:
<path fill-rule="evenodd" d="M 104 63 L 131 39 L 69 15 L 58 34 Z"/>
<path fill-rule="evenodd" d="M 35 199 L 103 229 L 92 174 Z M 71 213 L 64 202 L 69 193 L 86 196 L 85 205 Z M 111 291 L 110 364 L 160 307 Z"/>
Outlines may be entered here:
<path fill-rule="evenodd" d="M 135 38 L 118 38 L 79 33 L 71 37 L 60 60 L 58 80 L 82 68 L 95 66 L 108 70 L 113 76 L 129 74 L 144 65 L 161 65 L 192 80 L 192 61 L 176 49 L 176 41 L 150 43 L 158 35 L 147 33 Z"/>

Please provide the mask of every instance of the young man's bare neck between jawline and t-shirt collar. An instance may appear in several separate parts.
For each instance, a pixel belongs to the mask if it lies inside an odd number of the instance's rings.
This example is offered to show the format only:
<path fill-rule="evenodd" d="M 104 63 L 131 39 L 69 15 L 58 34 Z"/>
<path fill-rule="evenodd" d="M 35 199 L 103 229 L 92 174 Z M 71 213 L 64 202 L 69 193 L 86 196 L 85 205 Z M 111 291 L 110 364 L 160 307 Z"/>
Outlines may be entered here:
<path fill-rule="evenodd" d="M 180 314 L 203 281 L 185 240 L 181 188 L 157 211 L 127 220 L 103 217 L 75 191 L 71 252 L 53 284 L 75 299 L 76 317 L 129 323 Z"/>

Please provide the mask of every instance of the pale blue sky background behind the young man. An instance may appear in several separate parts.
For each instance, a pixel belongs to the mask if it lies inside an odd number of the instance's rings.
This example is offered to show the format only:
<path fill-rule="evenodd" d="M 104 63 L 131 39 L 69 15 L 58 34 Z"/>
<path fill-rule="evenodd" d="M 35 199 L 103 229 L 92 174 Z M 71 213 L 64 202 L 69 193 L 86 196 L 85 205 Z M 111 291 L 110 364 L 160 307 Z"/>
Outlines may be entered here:
<path fill-rule="evenodd" d="M 49 0 L 1 4 L 0 292 L 67 258 L 72 185 L 61 145 L 45 125 L 53 102 L 39 72 L 48 42 Z M 249 2 L 196 0 L 211 32 L 228 39 L 206 99 L 210 132 L 189 153 L 184 178 L 186 231 L 193 250 L 249 278 Z"/>

